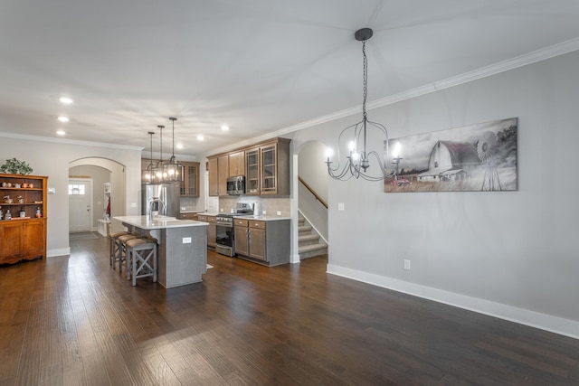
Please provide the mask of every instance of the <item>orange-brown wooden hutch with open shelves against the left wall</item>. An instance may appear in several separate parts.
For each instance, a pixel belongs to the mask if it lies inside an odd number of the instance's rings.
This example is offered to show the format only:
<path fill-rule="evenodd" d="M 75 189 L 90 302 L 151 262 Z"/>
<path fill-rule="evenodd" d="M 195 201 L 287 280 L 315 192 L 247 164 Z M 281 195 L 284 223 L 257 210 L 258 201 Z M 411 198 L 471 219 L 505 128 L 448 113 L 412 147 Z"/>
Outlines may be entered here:
<path fill-rule="evenodd" d="M 0 174 L 0 264 L 46 258 L 47 180 L 37 175 Z M 8 211 L 12 220 L 5 220 Z"/>

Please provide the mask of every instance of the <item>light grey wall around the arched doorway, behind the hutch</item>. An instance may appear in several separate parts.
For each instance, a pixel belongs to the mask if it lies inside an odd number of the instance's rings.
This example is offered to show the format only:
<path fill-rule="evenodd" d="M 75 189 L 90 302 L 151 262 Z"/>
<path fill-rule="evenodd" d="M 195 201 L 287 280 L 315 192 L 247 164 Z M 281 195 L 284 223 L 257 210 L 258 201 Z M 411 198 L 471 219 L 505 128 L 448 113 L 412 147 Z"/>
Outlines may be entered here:
<path fill-rule="evenodd" d="M 134 146 L 114 146 L 58 140 L 14 136 L 0 133 L 2 150 L 0 159 L 16 157 L 33 167 L 33 174 L 47 175 L 48 186 L 56 189 L 47 199 L 47 254 L 66 255 L 69 249 L 69 163 L 86 157 L 109 159 L 124 165 L 120 178 L 125 180 L 127 215 L 140 213 L 140 148 Z M 58 142 L 56 142 L 58 141 Z M 136 202 L 135 207 L 131 204 Z"/>

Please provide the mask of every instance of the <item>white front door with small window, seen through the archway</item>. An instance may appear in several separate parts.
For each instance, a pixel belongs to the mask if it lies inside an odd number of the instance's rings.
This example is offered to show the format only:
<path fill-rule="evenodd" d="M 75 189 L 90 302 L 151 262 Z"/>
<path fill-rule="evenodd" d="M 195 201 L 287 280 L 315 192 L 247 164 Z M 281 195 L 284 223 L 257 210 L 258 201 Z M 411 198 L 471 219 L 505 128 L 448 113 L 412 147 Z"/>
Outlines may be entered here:
<path fill-rule="evenodd" d="M 92 221 L 92 180 L 69 180 L 69 231 L 90 231 Z"/>

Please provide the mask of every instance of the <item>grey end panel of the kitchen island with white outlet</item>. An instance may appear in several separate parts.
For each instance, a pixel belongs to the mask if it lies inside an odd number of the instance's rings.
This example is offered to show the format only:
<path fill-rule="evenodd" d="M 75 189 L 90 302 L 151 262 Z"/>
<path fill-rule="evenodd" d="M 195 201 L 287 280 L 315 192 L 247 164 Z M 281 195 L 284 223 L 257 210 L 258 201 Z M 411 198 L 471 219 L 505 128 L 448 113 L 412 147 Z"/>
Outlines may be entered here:
<path fill-rule="evenodd" d="M 191 238 L 191 242 L 186 242 Z M 207 271 L 207 227 L 166 228 L 158 245 L 158 281 L 178 287 L 202 281 Z"/>

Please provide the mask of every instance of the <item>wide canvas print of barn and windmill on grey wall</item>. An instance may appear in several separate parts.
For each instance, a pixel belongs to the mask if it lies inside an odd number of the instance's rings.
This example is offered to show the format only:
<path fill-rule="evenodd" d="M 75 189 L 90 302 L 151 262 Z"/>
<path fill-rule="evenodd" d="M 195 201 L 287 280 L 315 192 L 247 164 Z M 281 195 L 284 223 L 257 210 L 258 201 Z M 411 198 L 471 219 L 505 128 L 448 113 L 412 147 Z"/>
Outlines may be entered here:
<path fill-rule="evenodd" d="M 395 172 L 384 179 L 386 193 L 517 190 L 517 118 L 389 139 L 386 146 Z"/>

